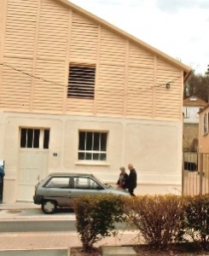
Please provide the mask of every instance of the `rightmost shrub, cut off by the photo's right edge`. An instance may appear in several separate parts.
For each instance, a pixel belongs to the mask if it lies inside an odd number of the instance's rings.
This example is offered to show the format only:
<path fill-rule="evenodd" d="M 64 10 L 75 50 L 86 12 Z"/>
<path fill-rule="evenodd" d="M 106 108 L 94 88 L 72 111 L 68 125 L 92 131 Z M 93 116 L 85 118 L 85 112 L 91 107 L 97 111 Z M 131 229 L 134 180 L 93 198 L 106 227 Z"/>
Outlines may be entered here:
<path fill-rule="evenodd" d="M 209 195 L 195 195 L 187 198 L 185 211 L 185 233 L 200 247 L 208 249 L 209 243 Z"/>

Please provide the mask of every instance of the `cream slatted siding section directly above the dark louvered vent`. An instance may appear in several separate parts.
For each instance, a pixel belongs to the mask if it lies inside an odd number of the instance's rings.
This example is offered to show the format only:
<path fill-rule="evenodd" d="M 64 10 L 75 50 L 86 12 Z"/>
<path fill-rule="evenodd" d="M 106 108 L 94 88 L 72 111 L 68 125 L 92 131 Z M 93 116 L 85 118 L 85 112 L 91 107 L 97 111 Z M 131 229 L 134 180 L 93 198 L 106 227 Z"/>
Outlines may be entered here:
<path fill-rule="evenodd" d="M 73 12 L 71 31 L 71 58 L 96 61 L 98 49 L 98 26 Z"/>

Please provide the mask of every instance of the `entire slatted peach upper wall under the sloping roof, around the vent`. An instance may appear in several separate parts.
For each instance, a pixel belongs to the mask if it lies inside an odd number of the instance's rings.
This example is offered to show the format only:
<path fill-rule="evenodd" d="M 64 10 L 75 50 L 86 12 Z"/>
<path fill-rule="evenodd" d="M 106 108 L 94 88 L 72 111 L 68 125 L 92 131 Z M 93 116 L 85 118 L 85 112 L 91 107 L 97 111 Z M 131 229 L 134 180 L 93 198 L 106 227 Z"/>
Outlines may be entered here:
<path fill-rule="evenodd" d="M 180 69 L 59 1 L 5 1 L 0 108 L 181 119 Z M 70 62 L 96 65 L 94 100 L 67 98 Z"/>

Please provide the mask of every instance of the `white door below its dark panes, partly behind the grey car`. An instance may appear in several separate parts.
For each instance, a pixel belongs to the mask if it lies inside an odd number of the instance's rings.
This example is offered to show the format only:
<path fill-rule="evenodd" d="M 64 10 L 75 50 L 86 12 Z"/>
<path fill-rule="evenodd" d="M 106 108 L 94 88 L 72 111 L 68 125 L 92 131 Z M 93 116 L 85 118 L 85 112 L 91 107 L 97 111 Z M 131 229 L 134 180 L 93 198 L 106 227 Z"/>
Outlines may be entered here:
<path fill-rule="evenodd" d="M 35 185 L 48 173 L 48 159 L 48 150 L 20 150 L 17 201 L 33 201 Z"/>

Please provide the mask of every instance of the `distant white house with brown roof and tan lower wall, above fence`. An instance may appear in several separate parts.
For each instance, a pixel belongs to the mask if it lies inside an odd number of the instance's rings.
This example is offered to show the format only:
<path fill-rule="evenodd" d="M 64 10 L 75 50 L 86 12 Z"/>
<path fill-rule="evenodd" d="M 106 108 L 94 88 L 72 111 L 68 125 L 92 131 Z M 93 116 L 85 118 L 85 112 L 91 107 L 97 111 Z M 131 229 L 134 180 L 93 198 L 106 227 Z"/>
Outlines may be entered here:
<path fill-rule="evenodd" d="M 197 96 L 183 101 L 183 151 L 196 152 L 198 149 L 199 112 L 206 104 Z"/>

